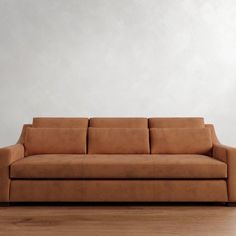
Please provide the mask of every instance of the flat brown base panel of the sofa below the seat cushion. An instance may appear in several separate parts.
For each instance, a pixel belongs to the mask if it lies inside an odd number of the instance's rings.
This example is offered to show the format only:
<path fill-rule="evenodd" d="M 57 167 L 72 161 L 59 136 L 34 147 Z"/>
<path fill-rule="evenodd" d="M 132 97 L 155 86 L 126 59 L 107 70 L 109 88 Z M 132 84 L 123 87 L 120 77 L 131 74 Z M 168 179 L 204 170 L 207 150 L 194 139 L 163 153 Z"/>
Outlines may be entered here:
<path fill-rule="evenodd" d="M 13 180 L 11 202 L 225 202 L 224 180 Z"/>

